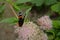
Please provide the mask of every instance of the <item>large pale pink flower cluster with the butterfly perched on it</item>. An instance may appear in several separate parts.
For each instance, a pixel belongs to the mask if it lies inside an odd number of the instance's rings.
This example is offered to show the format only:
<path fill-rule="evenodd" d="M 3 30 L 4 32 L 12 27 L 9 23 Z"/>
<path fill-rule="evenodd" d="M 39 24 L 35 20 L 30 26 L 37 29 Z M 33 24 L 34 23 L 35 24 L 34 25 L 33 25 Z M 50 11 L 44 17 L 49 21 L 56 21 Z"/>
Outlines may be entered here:
<path fill-rule="evenodd" d="M 14 26 L 18 33 L 16 40 L 48 40 L 47 35 L 33 22 L 24 23 L 22 27 Z"/>

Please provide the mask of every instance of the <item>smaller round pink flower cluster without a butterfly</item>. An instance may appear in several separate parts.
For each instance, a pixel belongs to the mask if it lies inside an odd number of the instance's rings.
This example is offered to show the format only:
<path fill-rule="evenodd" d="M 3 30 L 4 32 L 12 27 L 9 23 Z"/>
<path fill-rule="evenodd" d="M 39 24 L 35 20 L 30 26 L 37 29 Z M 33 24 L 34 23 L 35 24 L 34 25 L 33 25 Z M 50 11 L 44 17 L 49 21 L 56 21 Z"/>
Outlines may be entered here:
<path fill-rule="evenodd" d="M 37 23 L 40 25 L 40 28 L 43 30 L 49 30 L 52 28 L 52 21 L 49 16 L 42 16 L 37 20 Z"/>

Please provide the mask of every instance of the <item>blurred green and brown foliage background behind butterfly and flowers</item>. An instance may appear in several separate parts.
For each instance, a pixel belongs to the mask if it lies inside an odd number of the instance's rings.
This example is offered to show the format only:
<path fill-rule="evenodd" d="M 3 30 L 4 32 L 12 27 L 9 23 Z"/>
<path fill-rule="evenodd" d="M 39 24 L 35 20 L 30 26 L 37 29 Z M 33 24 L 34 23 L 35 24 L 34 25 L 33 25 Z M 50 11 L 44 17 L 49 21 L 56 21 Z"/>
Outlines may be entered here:
<path fill-rule="evenodd" d="M 18 21 L 15 13 L 18 15 L 21 10 L 26 14 L 25 21 L 29 12 L 36 14 L 34 20 L 49 15 L 53 28 L 46 30 L 48 40 L 60 40 L 60 0 L 0 0 L 0 40 L 15 40 L 13 26 Z"/>

